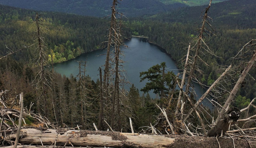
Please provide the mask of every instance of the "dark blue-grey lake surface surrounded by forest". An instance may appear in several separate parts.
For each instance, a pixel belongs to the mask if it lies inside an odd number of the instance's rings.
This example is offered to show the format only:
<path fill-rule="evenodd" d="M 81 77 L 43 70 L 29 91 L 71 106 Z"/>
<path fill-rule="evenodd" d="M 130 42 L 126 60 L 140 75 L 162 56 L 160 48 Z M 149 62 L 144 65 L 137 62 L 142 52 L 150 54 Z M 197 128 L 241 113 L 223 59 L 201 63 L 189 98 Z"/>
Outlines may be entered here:
<path fill-rule="evenodd" d="M 127 71 L 126 77 L 129 82 L 134 84 L 139 90 L 146 84 L 146 81 L 140 82 L 140 72 L 147 71 L 153 65 L 166 62 L 168 71 L 173 71 L 175 74 L 181 72 L 177 69 L 175 61 L 171 59 L 170 55 L 166 54 L 163 49 L 146 42 L 145 39 L 133 37 L 131 40 L 126 41 L 125 44 L 129 47 L 128 49 L 122 49 L 125 54 L 122 60 L 126 61 L 126 63 L 124 63 L 124 69 Z M 70 74 L 76 76 L 79 73 L 79 68 L 77 68 L 79 64 L 76 61 L 86 60 L 86 74 L 96 81 L 99 78 L 99 67 L 105 64 L 106 56 L 102 55 L 105 53 L 105 50 L 96 50 L 82 54 L 73 60 L 56 63 L 54 65 L 55 71 L 66 76 L 70 76 Z M 197 83 L 194 83 L 194 86 L 200 98 L 205 90 L 201 89 Z M 129 90 L 129 86 L 125 86 L 125 88 Z M 156 98 L 156 94 L 153 92 L 150 92 L 150 95 L 152 98 Z"/>

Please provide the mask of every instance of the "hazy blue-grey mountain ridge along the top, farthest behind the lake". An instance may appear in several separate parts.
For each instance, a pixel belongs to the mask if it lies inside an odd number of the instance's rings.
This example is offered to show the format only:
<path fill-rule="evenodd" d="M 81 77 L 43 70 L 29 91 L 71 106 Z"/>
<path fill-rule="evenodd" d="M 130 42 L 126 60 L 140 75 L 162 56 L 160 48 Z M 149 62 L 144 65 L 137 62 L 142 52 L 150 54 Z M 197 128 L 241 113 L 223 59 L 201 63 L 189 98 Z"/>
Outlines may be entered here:
<path fill-rule="evenodd" d="M 218 0 L 213 2 L 220 2 Z M 127 17 L 157 14 L 189 5 L 203 5 L 209 0 L 123 0 L 118 11 Z M 0 4 L 23 9 L 74 13 L 84 16 L 104 17 L 110 14 L 112 0 L 0 0 Z"/>

